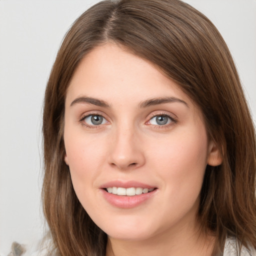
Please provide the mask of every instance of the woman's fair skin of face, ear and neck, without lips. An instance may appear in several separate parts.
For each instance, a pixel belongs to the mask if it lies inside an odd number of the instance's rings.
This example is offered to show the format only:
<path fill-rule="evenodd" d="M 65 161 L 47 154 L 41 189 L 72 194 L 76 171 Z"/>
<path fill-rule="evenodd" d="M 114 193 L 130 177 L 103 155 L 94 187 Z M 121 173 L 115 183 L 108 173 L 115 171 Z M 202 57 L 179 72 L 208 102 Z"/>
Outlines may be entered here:
<path fill-rule="evenodd" d="M 163 97 L 172 101 L 145 103 Z M 91 123 L 91 114 L 102 123 Z M 155 116 L 169 117 L 159 125 Z M 199 231 L 196 214 L 205 166 L 221 158 L 200 109 L 172 80 L 124 48 L 98 46 L 72 76 L 64 122 L 64 159 L 79 201 L 108 235 L 107 256 L 211 254 L 214 238 Z M 102 196 L 100 186 L 112 180 L 156 189 L 121 208 Z"/>

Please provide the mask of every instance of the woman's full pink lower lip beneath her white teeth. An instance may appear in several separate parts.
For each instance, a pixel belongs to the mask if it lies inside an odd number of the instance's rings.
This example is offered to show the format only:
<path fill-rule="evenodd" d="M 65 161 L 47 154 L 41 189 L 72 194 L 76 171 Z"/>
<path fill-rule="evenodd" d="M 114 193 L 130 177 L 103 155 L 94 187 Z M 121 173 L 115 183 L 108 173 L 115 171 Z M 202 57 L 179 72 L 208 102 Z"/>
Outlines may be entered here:
<path fill-rule="evenodd" d="M 157 189 L 154 189 L 151 192 L 148 193 L 142 193 L 142 194 L 136 194 L 136 195 L 117 195 L 108 193 L 106 190 L 101 189 L 104 198 L 113 206 L 119 207 L 119 208 L 133 208 L 136 207 L 146 200 L 150 199 L 152 196 L 154 196 Z"/>

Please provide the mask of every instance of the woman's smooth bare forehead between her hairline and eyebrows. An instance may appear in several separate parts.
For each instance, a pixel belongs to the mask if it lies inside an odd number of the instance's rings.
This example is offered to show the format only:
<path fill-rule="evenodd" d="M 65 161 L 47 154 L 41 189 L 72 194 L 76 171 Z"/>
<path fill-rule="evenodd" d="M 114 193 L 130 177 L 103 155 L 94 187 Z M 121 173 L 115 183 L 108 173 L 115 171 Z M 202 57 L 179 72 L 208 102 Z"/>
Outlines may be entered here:
<path fill-rule="evenodd" d="M 158 68 L 119 46 L 95 47 L 80 61 L 67 89 L 67 100 L 82 94 L 141 100 L 152 96 L 188 96 Z"/>

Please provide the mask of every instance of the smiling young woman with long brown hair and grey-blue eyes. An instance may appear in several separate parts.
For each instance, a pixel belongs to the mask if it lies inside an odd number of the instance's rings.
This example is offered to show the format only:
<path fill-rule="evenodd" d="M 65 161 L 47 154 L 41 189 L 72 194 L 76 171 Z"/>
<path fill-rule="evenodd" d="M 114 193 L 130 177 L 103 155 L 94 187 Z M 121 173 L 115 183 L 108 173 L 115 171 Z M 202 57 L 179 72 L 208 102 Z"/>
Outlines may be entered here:
<path fill-rule="evenodd" d="M 56 255 L 255 255 L 255 133 L 214 25 L 179 0 L 103 1 L 45 91 Z"/>

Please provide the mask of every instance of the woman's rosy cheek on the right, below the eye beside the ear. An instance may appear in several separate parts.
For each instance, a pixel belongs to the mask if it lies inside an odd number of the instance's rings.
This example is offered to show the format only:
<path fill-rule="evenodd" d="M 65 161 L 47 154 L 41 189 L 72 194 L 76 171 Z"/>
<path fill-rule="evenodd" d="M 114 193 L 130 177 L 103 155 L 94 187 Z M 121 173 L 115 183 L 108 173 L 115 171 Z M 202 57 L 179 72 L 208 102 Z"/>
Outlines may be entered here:
<path fill-rule="evenodd" d="M 159 175 L 168 180 L 173 189 L 181 186 L 200 189 L 207 162 L 205 130 L 191 129 L 165 138 L 151 151 L 150 159 L 154 169 L 158 169 Z"/>

